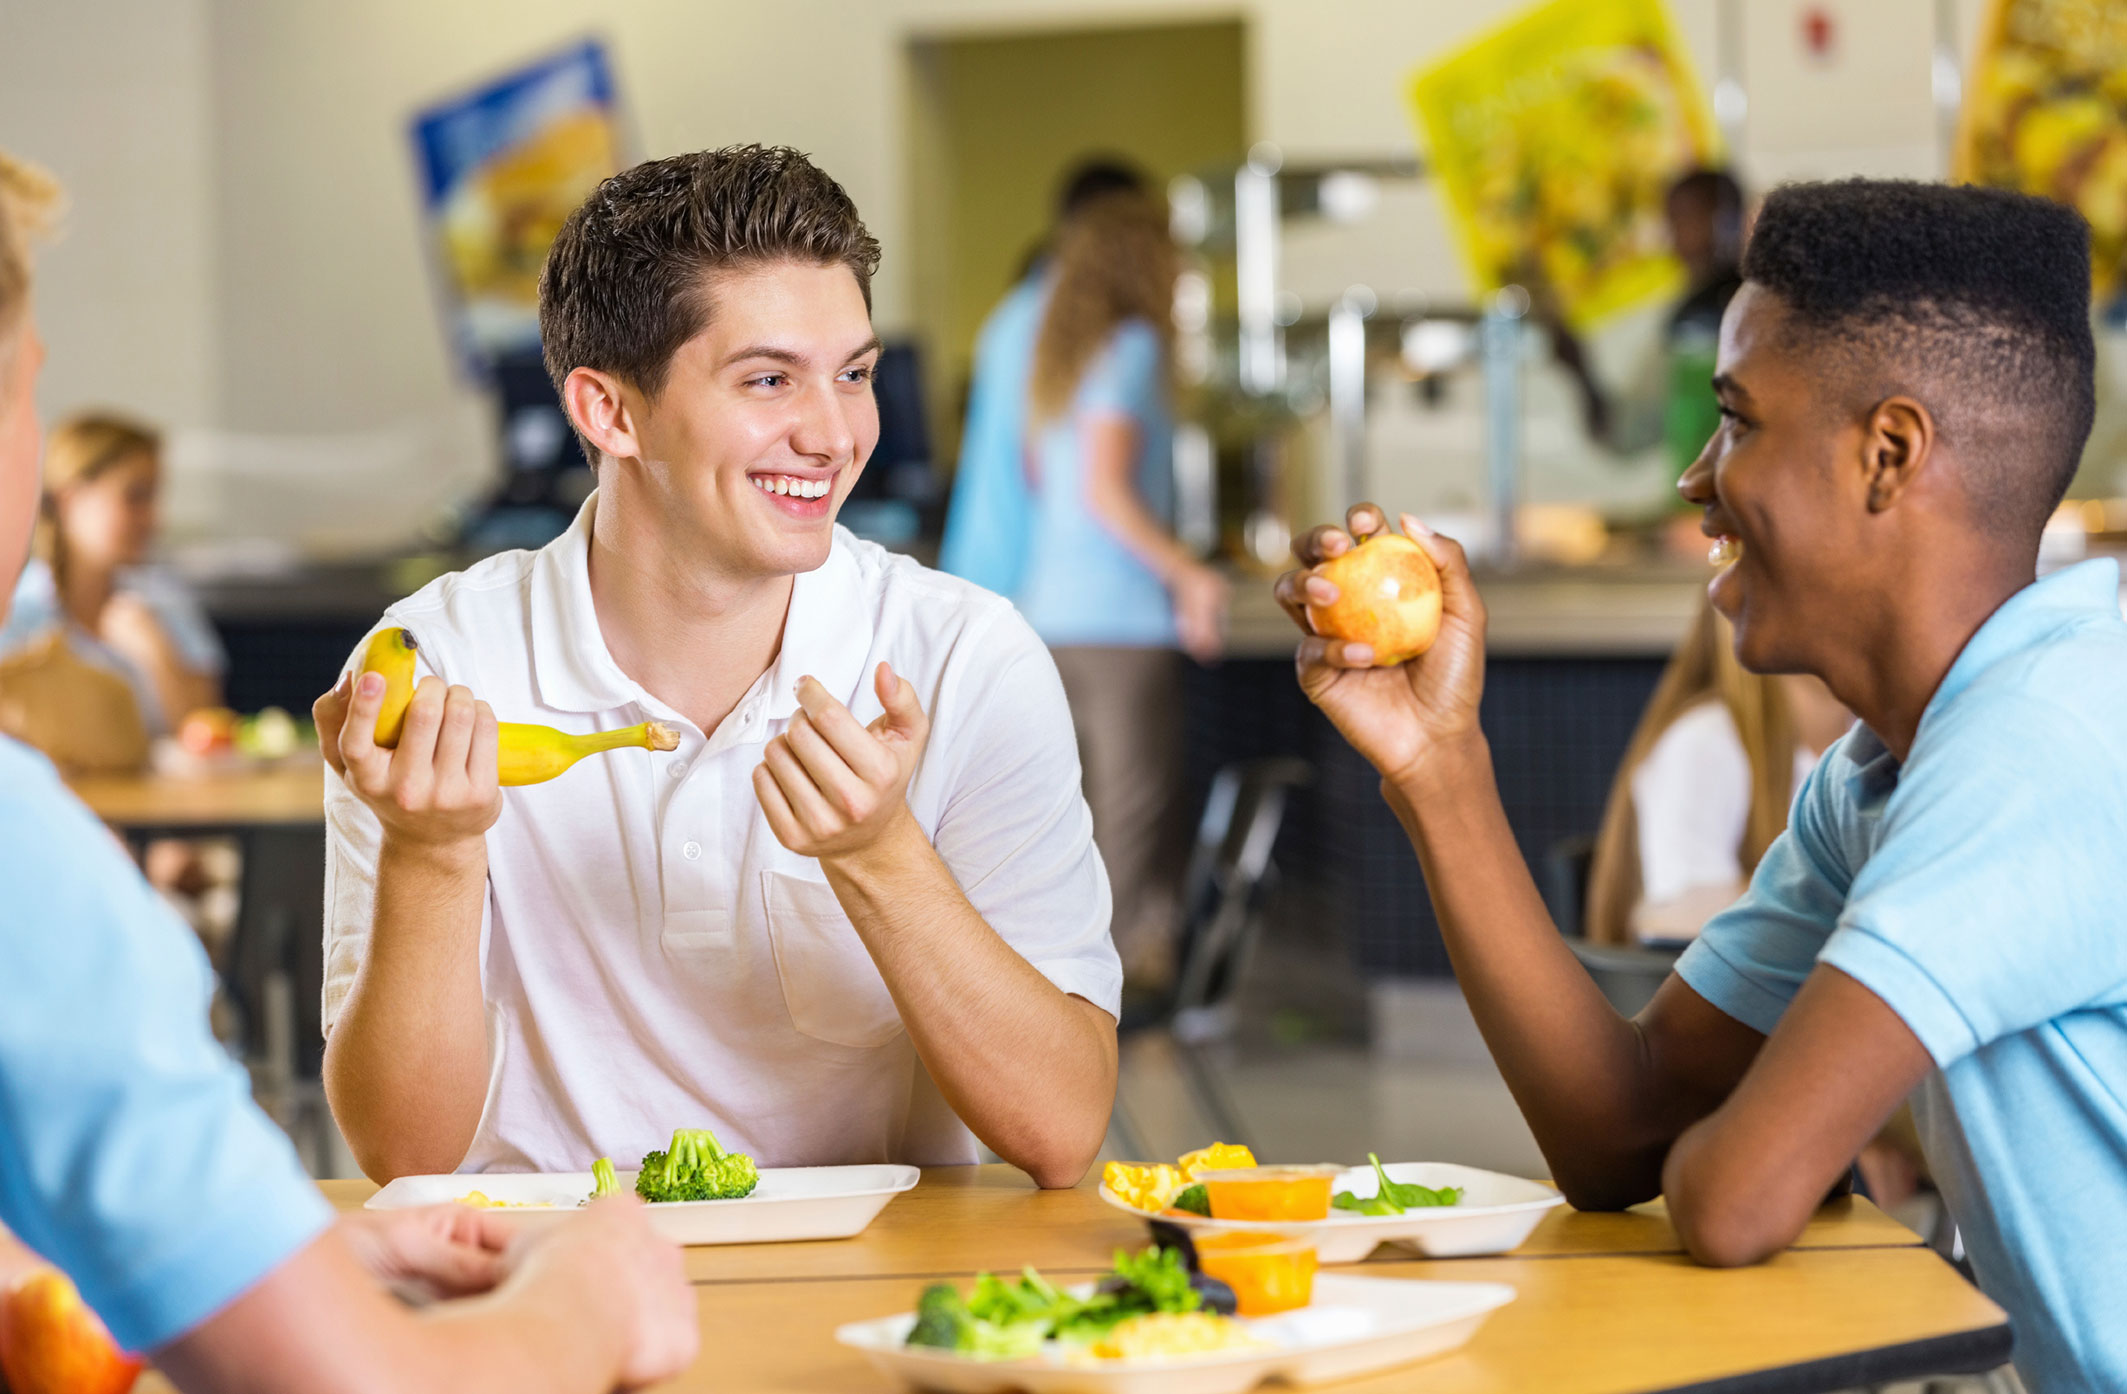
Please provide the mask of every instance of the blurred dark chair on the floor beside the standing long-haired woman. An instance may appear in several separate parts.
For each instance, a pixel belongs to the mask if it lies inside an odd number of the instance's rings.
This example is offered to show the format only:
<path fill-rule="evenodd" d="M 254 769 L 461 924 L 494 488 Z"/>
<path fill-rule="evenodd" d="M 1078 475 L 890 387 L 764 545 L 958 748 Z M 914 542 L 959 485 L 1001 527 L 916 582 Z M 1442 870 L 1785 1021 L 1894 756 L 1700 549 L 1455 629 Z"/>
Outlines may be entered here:
<path fill-rule="evenodd" d="M 1249 1145 L 1208 1047 L 1234 1034 L 1242 973 L 1263 930 L 1263 907 L 1276 885 L 1272 847 L 1291 792 L 1314 779 L 1306 760 L 1236 760 L 1212 775 L 1183 875 L 1178 970 L 1174 988 L 1146 1005 L 1125 1002 L 1125 1036 L 1161 1034 L 1174 1049 L 1183 1081 L 1219 1141 Z M 1129 1156 L 1151 1156 L 1117 1098 L 1112 1126 Z"/>

